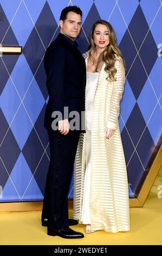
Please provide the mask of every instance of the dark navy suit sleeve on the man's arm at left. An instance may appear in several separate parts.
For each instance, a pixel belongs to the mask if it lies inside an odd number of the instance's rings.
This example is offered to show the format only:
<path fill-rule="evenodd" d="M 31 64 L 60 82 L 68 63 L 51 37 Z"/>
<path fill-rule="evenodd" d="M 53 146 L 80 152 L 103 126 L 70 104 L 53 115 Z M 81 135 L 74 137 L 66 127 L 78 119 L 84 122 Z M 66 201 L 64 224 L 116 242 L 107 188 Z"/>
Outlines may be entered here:
<path fill-rule="evenodd" d="M 44 58 L 44 67 L 47 74 L 47 89 L 50 106 L 53 111 L 60 111 L 63 117 L 65 102 L 64 77 L 66 70 L 66 51 L 64 48 L 55 48 Z M 64 118 L 63 118 L 64 119 Z"/>

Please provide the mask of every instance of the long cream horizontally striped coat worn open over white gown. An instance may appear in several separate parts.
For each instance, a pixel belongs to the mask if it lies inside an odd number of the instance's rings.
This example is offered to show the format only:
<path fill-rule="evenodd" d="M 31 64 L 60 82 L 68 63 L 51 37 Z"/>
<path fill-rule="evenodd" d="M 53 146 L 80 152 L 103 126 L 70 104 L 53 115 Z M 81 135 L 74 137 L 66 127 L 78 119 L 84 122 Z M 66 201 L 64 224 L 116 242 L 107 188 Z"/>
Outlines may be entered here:
<path fill-rule="evenodd" d="M 88 52 L 83 54 L 86 65 Z M 122 148 L 118 116 L 124 90 L 125 71 L 116 60 L 116 81 L 106 80 L 103 64 L 93 101 L 92 167 L 90 178 L 90 221 L 92 231 L 109 232 L 129 230 L 129 196 L 124 151 Z M 115 130 L 106 139 L 106 126 Z M 73 218 L 81 220 L 83 187 L 85 181 L 86 133 L 81 133 L 74 164 Z"/>

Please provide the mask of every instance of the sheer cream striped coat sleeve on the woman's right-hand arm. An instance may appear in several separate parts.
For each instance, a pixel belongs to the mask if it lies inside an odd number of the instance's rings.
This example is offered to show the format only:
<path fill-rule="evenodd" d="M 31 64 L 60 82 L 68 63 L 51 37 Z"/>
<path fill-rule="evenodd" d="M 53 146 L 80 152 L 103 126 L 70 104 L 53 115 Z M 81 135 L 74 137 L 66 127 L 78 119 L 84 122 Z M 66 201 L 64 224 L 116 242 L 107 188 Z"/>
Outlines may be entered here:
<path fill-rule="evenodd" d="M 113 82 L 113 90 L 111 97 L 110 113 L 106 127 L 116 130 L 118 125 L 118 117 L 120 113 L 120 100 L 124 91 L 125 83 L 125 69 L 122 60 L 116 60 L 115 68 L 117 70 L 115 74 L 116 81 Z"/>

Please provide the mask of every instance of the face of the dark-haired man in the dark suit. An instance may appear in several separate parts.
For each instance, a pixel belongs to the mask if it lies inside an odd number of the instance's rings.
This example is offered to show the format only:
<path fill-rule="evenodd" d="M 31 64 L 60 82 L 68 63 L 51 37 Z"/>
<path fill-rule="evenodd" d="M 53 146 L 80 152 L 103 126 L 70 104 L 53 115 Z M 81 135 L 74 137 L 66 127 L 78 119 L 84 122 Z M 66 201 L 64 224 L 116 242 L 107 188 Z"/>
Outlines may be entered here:
<path fill-rule="evenodd" d="M 74 40 L 80 33 L 81 29 L 81 16 L 80 14 L 69 11 L 67 19 L 60 20 L 60 33 L 68 36 L 68 38 Z"/>

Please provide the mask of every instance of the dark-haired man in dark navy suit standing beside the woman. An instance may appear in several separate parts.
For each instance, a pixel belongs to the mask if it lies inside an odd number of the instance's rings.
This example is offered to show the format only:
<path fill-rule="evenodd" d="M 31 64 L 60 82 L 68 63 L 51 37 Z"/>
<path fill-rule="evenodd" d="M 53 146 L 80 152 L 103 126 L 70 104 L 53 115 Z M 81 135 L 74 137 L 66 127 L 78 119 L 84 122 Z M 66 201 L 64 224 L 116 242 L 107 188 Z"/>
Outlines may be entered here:
<path fill-rule="evenodd" d="M 77 144 L 81 130 L 70 129 L 70 118 L 64 114 L 85 110 L 86 65 L 77 50 L 74 39 L 81 29 L 82 11 L 75 6 L 62 10 L 60 34 L 48 47 L 44 56 L 49 101 L 44 118 L 50 145 L 50 165 L 42 210 L 42 225 L 48 227 L 48 235 L 63 238 L 82 238 L 82 233 L 69 228 L 77 224 L 68 219 L 68 190 L 72 177 Z M 57 130 L 52 123 L 52 113 L 59 112 Z M 60 118 L 61 116 L 61 118 Z M 52 126 L 51 126 L 52 125 Z"/>

